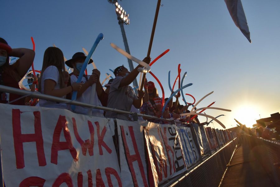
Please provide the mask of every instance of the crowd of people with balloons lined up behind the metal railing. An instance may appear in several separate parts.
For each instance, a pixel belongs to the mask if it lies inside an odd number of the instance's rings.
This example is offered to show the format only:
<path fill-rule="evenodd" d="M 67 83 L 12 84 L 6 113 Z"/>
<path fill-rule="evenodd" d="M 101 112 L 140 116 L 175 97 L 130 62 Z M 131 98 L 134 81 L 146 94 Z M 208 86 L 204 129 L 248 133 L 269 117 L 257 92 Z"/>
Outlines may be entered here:
<path fill-rule="evenodd" d="M 26 76 L 30 69 L 35 52 L 31 49 L 19 48 L 12 49 L 8 43 L 0 38 L 0 81 L 1 85 L 6 85 L 14 88 L 19 87 L 19 81 Z M 19 59 L 9 64 L 9 57 L 14 56 Z M 116 108 L 124 111 L 147 114 L 150 116 L 163 117 L 169 119 L 178 119 L 181 122 L 191 122 L 190 117 L 181 117 L 181 113 L 189 112 L 188 105 L 180 105 L 180 92 L 175 95 L 175 102 L 171 99 L 168 106 L 162 113 L 162 99 L 158 95 L 155 84 L 152 81 L 145 80 L 144 91 L 138 90 L 138 95 L 135 94 L 133 88 L 129 86 L 138 76 L 138 65 L 131 72 L 124 65 L 114 69 L 114 79 L 110 79 L 105 85 L 105 90 L 100 84 L 100 71 L 92 70 L 91 75 L 83 74 L 82 81 L 77 83 L 78 76 L 82 69 L 86 56 L 82 52 L 77 52 L 72 56 L 72 59 L 64 62 L 63 52 L 57 47 L 48 47 L 44 52 L 43 65 L 40 76 L 28 74 L 28 83 L 30 83 L 31 91 L 38 92 L 60 98 L 71 99 L 73 91 L 77 91 L 77 101 L 89 103 L 93 97 L 94 105 Z M 145 57 L 143 62 L 149 64 L 150 57 Z M 90 60 L 88 64 L 93 61 Z M 65 70 L 65 65 L 73 69 L 72 73 Z M 31 84 L 32 82 L 32 84 Z M 95 91 L 92 93 L 91 87 L 95 84 Z M 172 94 L 172 93 L 171 93 Z M 20 95 L 13 93 L 1 93 L 0 103 L 11 103 L 16 105 L 31 105 L 48 108 L 62 108 L 71 110 L 70 105 L 66 103 L 57 103 L 50 100 L 37 99 L 32 97 L 21 98 Z M 14 101 L 15 100 L 15 101 Z M 165 98 L 165 101 L 167 98 Z M 72 112 L 80 114 L 88 114 L 88 108 L 77 106 Z M 129 115 L 116 113 L 114 111 L 102 111 L 92 109 L 91 114 L 99 117 L 110 117 L 124 120 L 131 120 Z M 148 117 L 139 117 L 151 122 L 167 123 L 160 119 L 149 119 Z M 194 122 L 199 123 L 198 118 L 194 118 Z"/>

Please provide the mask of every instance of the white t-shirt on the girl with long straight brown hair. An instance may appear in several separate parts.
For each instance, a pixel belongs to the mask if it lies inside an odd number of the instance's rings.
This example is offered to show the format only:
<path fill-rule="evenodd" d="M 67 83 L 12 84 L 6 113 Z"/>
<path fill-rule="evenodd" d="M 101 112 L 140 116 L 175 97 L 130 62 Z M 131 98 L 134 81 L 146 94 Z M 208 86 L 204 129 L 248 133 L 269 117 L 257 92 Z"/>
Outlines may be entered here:
<path fill-rule="evenodd" d="M 41 79 L 41 93 L 44 93 L 44 81 L 47 79 L 51 79 L 55 81 L 54 89 L 60 89 L 60 81 L 59 81 L 59 72 L 57 67 L 51 65 L 44 70 L 44 73 Z M 62 98 L 66 98 L 63 96 Z M 47 101 L 44 99 L 39 99 L 40 107 L 48 107 L 48 108 L 63 108 L 68 109 L 69 105 L 66 103 L 56 103 L 54 101 Z"/>

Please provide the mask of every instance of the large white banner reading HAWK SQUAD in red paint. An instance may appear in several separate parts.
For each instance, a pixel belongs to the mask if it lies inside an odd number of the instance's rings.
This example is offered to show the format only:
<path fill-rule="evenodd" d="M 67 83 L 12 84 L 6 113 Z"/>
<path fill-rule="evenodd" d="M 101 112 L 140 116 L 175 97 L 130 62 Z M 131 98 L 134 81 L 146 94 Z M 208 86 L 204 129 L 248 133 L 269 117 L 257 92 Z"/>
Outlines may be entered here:
<path fill-rule="evenodd" d="M 7 187 L 122 186 L 114 122 L 56 108 L 0 104 L 0 110 Z"/>

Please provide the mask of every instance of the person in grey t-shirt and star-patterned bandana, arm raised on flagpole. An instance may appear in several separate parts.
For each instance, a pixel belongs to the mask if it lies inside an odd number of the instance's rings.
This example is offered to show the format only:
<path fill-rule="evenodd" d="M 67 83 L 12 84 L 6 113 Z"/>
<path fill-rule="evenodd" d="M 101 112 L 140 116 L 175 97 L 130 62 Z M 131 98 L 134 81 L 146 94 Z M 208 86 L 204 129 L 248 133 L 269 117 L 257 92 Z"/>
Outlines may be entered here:
<path fill-rule="evenodd" d="M 146 57 L 143 62 L 150 64 L 151 58 Z M 133 92 L 133 89 L 129 84 L 137 77 L 139 74 L 138 68 L 142 67 L 138 65 L 134 70 L 129 72 L 124 65 L 117 67 L 114 70 L 114 81 L 110 85 L 110 92 L 108 97 L 107 107 L 116 108 L 120 110 L 130 111 L 132 105 L 135 108 L 140 108 L 142 106 L 142 98 L 144 97 L 144 91 L 138 90 L 138 97 Z M 118 118 L 130 120 L 128 115 L 119 114 L 115 112 L 106 112 L 105 117 Z"/>

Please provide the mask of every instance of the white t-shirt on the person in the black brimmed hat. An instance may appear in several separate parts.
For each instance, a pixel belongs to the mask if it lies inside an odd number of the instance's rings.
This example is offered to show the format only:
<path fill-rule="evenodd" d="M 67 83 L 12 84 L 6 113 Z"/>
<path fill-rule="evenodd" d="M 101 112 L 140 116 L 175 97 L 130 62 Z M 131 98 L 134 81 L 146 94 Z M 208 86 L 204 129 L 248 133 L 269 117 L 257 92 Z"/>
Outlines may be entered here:
<path fill-rule="evenodd" d="M 90 75 L 87 76 L 87 79 L 89 79 L 89 77 L 90 77 Z M 77 79 L 78 79 L 78 76 L 72 74 L 70 76 L 71 84 L 77 82 Z M 83 76 L 81 83 L 85 83 L 85 82 L 86 82 L 86 77 Z M 91 98 L 91 86 L 88 87 L 86 89 L 86 91 L 84 91 L 84 93 L 79 98 L 77 98 L 76 100 L 79 101 L 79 102 L 83 102 L 83 103 L 89 103 L 90 98 Z M 94 101 L 93 105 L 102 106 L 102 104 L 101 104 L 101 102 L 100 102 L 100 100 L 97 96 L 96 90 L 95 90 L 93 99 L 94 99 L 93 100 Z M 73 112 L 80 113 L 80 114 L 88 114 L 88 108 L 76 106 L 75 111 L 73 111 Z M 103 110 L 97 110 L 97 109 L 94 109 L 94 108 L 92 108 L 91 115 L 92 116 L 104 117 Z"/>

